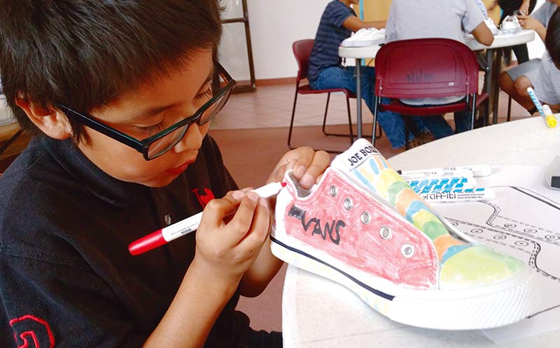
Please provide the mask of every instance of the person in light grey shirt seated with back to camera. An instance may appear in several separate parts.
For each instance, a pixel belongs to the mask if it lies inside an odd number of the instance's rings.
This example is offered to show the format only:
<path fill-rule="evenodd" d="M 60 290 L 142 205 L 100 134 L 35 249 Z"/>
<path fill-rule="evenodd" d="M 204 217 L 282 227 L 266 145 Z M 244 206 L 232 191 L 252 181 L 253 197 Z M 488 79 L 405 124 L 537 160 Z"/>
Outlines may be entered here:
<path fill-rule="evenodd" d="M 474 0 L 449 0 L 445 6 L 437 0 L 393 0 L 385 28 L 385 41 L 436 37 L 462 42 L 463 30 L 483 45 L 489 46 L 493 41 L 493 35 L 484 23 L 484 15 Z M 463 97 L 407 99 L 402 102 L 418 106 L 441 105 L 457 102 Z M 470 111 L 456 112 L 454 119 L 455 132 L 470 130 Z M 441 115 L 426 116 L 422 121 L 436 139 L 454 134 Z"/>

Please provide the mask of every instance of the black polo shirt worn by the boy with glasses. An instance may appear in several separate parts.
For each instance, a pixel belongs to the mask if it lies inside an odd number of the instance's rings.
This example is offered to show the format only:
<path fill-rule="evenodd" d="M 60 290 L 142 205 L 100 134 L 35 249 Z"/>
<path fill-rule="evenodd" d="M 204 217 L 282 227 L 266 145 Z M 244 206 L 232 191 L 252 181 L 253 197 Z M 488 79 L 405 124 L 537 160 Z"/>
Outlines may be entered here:
<path fill-rule="evenodd" d="M 31 141 L 0 178 L 0 347 L 141 347 L 193 260 L 195 234 L 140 256 L 128 244 L 236 188 L 209 136 L 165 188 L 114 179 L 71 141 Z M 237 346 L 248 326 L 238 299 L 207 347 Z"/>

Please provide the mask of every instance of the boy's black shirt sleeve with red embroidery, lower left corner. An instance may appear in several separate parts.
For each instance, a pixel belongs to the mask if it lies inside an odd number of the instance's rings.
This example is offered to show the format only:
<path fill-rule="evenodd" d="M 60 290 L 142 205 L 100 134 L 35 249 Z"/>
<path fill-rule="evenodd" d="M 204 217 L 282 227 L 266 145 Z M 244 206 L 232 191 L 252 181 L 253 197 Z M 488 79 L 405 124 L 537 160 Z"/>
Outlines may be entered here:
<path fill-rule="evenodd" d="M 90 270 L 0 253 L 1 347 L 141 347 L 116 295 Z"/>

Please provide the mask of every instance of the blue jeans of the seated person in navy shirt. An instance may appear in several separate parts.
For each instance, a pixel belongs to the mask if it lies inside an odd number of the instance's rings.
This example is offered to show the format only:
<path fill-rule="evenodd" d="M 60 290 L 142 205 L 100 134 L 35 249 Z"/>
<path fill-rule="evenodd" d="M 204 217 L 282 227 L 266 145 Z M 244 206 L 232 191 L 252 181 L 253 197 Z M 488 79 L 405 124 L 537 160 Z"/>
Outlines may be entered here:
<path fill-rule="evenodd" d="M 375 85 L 375 69 L 373 67 L 363 67 L 361 69 L 361 92 L 362 98 L 367 105 L 367 108 L 373 113 L 375 98 L 374 98 L 374 85 Z M 329 88 L 346 88 L 351 92 L 356 93 L 356 77 L 354 76 L 354 67 L 343 69 L 341 67 L 328 67 L 321 69 L 317 78 L 313 81 L 309 80 L 309 85 L 315 90 L 325 90 Z M 388 102 L 383 99 L 382 102 Z M 393 148 L 400 148 L 405 146 L 405 123 L 398 113 L 391 111 L 379 111 L 377 113 L 377 121 L 381 128 L 383 128 L 387 138 L 391 142 Z M 421 120 L 412 118 L 416 129 L 424 130 Z M 414 139 L 413 134 L 409 134 L 409 141 Z"/>

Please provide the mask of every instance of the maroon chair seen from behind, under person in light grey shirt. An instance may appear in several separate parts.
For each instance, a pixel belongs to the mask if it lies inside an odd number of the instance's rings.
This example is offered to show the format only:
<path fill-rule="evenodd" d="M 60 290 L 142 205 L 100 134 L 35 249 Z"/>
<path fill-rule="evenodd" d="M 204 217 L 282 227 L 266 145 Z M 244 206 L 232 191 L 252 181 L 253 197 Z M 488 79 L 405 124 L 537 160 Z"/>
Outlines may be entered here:
<path fill-rule="evenodd" d="M 486 93 L 478 94 L 478 62 L 465 44 L 451 39 L 412 39 L 393 41 L 375 56 L 375 108 L 393 111 L 405 118 L 405 145 L 408 149 L 407 116 L 433 116 L 470 110 L 471 129 L 476 109 L 488 102 Z M 459 102 L 443 105 L 410 106 L 400 99 L 465 96 Z M 381 98 L 391 100 L 381 104 Z M 488 109 L 486 107 L 486 109 Z M 372 139 L 374 144 L 375 139 Z"/>

